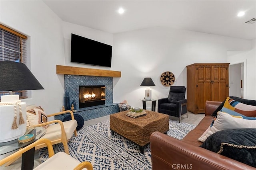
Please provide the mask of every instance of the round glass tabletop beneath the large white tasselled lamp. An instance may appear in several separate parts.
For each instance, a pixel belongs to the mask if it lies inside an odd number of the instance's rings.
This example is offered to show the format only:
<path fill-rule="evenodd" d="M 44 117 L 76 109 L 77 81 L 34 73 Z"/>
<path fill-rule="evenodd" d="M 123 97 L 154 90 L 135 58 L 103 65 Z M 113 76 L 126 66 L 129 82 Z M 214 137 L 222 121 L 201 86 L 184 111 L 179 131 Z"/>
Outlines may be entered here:
<path fill-rule="evenodd" d="M 36 140 L 40 139 L 45 133 L 46 129 L 44 127 L 31 127 L 27 128 L 26 132 L 24 135 L 33 133 L 35 136 L 35 139 L 26 143 L 19 143 L 18 139 L 15 139 L 13 141 L 8 141 L 8 142 L 3 142 L 0 143 L 0 155 L 6 154 L 9 152 L 12 152 L 14 150 L 23 148 L 28 146 L 29 144 L 35 142 Z"/>

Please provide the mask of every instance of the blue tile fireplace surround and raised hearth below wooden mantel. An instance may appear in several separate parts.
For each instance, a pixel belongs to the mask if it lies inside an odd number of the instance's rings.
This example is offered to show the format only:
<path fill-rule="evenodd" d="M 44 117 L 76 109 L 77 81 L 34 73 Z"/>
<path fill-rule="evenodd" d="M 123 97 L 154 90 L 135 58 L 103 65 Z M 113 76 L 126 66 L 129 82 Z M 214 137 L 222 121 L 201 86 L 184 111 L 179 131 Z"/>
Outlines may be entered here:
<path fill-rule="evenodd" d="M 113 103 L 113 78 L 106 76 L 64 75 L 65 92 L 69 93 L 70 103 L 76 102 L 74 114 L 81 115 L 84 121 L 119 112 L 118 104 Z M 101 86 L 105 88 L 105 105 L 84 107 L 79 109 L 79 86 Z M 66 115 L 55 116 L 63 120 Z"/>

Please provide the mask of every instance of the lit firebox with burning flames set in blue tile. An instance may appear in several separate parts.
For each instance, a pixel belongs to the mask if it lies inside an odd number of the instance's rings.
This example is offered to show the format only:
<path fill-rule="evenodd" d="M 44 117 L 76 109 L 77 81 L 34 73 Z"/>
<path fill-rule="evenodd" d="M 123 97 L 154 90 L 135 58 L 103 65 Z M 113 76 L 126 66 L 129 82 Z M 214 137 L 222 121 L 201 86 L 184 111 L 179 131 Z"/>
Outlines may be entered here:
<path fill-rule="evenodd" d="M 105 104 L 105 86 L 79 86 L 79 108 Z"/>

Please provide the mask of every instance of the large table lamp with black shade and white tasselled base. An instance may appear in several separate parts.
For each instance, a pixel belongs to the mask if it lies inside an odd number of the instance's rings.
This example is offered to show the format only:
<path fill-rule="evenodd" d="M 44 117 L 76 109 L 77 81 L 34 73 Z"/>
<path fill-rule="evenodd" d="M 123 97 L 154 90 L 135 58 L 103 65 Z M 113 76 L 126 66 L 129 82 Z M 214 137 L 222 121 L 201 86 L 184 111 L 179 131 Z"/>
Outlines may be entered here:
<path fill-rule="evenodd" d="M 12 91 L 44 89 L 24 63 L 0 61 L 0 91 L 10 95 L 1 96 L 0 143 L 12 141 L 26 132 L 26 103 Z"/>

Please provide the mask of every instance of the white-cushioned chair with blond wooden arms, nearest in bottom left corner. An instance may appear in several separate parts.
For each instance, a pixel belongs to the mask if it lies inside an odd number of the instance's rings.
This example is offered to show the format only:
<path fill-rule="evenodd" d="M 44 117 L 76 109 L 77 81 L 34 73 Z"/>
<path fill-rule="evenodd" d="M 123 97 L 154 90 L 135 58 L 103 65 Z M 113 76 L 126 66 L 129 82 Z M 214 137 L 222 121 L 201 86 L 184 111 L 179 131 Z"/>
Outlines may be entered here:
<path fill-rule="evenodd" d="M 34 170 L 82 170 L 83 168 L 86 168 L 87 170 L 93 170 L 92 164 L 88 161 L 79 162 L 65 152 L 58 152 L 54 154 L 52 143 L 48 139 L 39 139 L 27 147 L 24 147 L 21 150 L 11 154 L 10 156 L 7 156 L 6 158 L 0 160 L 0 166 L 6 164 L 6 162 L 10 162 L 11 160 L 16 159 L 17 157 L 20 157 L 22 153 L 34 148 L 35 146 L 42 144 L 48 147 L 49 158 L 34 168 Z"/>

